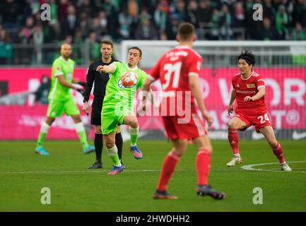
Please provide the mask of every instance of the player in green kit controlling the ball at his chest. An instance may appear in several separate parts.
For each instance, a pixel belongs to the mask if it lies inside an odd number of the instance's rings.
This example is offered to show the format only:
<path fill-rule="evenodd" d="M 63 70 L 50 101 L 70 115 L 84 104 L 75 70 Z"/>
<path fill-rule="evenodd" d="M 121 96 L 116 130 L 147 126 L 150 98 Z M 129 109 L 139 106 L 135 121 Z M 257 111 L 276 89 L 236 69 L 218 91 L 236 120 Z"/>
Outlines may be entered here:
<path fill-rule="evenodd" d="M 114 143 L 118 123 L 129 125 L 131 153 L 133 153 L 136 159 L 143 157 L 141 151 L 137 148 L 139 124 L 133 112 L 136 91 L 142 87 L 143 81 L 147 77 L 146 72 L 137 66 L 139 61 L 141 61 L 141 55 L 142 52 L 139 47 L 131 47 L 126 64 L 114 61 L 110 65 L 97 67 L 97 71 L 110 73 L 110 80 L 106 86 L 101 114 L 102 134 L 105 136 L 108 155 L 112 158 L 112 162 L 114 162 L 114 167 L 109 172 L 109 175 L 118 174 L 124 168 L 119 160 L 117 146 Z M 133 79 L 135 83 L 132 85 L 124 85 L 122 83 L 122 76 L 126 75 L 126 73 L 134 75 Z"/>

